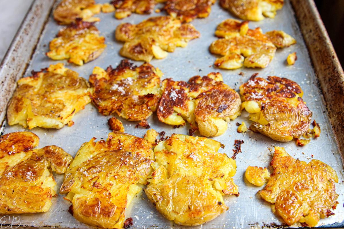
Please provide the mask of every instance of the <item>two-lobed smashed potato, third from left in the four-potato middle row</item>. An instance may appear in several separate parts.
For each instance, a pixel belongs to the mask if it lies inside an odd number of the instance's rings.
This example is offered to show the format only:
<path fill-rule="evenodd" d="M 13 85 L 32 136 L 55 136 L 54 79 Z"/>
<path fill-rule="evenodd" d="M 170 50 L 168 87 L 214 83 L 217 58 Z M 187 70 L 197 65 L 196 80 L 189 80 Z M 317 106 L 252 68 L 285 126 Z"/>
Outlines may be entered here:
<path fill-rule="evenodd" d="M 218 72 L 194 76 L 189 84 L 165 79 L 162 90 L 157 110 L 159 121 L 169 125 L 185 125 L 187 121 L 191 124 L 190 133 L 198 128 L 206 137 L 221 135 L 227 122 L 240 115 L 239 94 L 223 83 Z"/>

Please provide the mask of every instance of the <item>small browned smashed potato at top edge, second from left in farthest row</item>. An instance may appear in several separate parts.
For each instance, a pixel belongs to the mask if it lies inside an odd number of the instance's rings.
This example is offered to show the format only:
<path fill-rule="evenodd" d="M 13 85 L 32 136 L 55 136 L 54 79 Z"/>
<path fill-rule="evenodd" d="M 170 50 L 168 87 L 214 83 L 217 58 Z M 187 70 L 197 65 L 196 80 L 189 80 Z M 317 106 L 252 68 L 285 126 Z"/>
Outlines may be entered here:
<path fill-rule="evenodd" d="M 115 18 L 123 19 L 132 12 L 150 14 L 153 12 L 157 1 L 155 0 L 113 0 L 111 4 L 116 8 Z"/>

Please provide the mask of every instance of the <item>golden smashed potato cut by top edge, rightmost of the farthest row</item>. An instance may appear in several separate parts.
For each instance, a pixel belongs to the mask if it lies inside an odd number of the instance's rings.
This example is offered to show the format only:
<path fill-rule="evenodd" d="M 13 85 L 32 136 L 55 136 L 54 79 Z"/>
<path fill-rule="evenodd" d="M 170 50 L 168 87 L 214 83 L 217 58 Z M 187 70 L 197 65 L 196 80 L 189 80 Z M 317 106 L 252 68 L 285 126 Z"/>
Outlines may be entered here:
<path fill-rule="evenodd" d="M 265 17 L 275 18 L 283 0 L 220 0 L 220 5 L 240 19 L 260 21 Z"/>

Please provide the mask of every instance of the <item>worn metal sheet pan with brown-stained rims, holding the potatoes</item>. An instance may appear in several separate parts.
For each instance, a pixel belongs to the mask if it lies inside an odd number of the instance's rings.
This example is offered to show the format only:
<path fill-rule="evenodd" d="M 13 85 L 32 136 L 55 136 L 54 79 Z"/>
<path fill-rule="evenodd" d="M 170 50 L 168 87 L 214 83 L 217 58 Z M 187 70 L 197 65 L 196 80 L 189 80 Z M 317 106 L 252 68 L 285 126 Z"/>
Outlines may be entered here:
<path fill-rule="evenodd" d="M 108 0 L 97 1 L 97 3 L 105 2 L 108 2 Z M 256 72 L 259 73 L 260 77 L 279 76 L 294 80 L 301 85 L 304 91 L 303 99 L 313 112 L 312 119 L 320 123 L 322 130 L 320 138 L 311 140 L 310 144 L 304 147 L 297 147 L 294 141 L 287 143 L 277 142 L 252 131 L 248 131 L 246 134 L 239 134 L 236 132 L 237 122 L 241 123 L 244 121 L 246 124 L 250 124 L 250 121 L 248 121 L 248 113 L 243 112 L 240 117 L 228 124 L 228 129 L 225 134 L 214 137 L 215 140 L 225 145 L 225 148 L 220 152 L 226 153 L 228 156 L 233 155 L 234 140 L 244 140 L 244 144 L 241 147 L 242 152 L 236 157 L 237 173 L 234 176 L 234 182 L 239 186 L 240 195 L 238 197 L 234 195 L 224 197 L 226 205 L 229 206 L 229 210 L 201 226 L 183 227 L 165 219 L 141 191 L 133 199 L 126 212 L 127 217 L 133 218 L 134 224 L 132 228 L 198 229 L 284 227 L 283 221 L 272 213 L 271 205 L 261 200 L 259 196 L 256 196 L 257 191 L 261 187 L 256 187 L 248 183 L 244 175 L 248 165 L 269 168 L 273 154 L 273 150 L 271 150 L 273 146 L 285 147 L 287 152 L 294 158 L 299 158 L 307 162 L 311 159 L 319 159 L 334 168 L 339 178 L 339 182 L 336 184 L 336 192 L 340 194 L 337 199 L 339 204 L 334 211 L 335 215 L 321 219 L 318 226 L 344 227 L 344 183 L 342 183 L 344 180 L 344 172 L 340 151 L 340 149 L 343 149 L 341 145 L 343 137 L 340 133 L 343 132 L 340 132 L 340 124 L 338 124 L 340 120 L 343 121 L 344 115 L 340 113 L 340 108 L 338 108 L 338 106 L 341 106 L 340 104 L 338 105 L 340 100 L 335 102 L 333 99 L 342 98 L 340 89 L 343 87 L 340 87 L 340 83 L 342 82 L 341 79 L 343 79 L 343 72 L 340 65 L 338 65 L 338 61 L 335 62 L 335 53 L 332 54 L 333 57 L 324 55 L 333 52 L 333 47 L 328 40 L 324 28 L 319 28 L 321 26 L 321 20 L 319 21 L 319 18 L 316 18 L 319 15 L 317 15 L 316 9 L 314 8 L 314 2 L 312 0 L 302 2 L 285 0 L 284 2 L 283 9 L 278 11 L 275 19 L 265 19 L 260 22 L 249 23 L 250 28 L 261 27 L 264 32 L 274 29 L 283 30 L 292 35 L 298 42 L 289 48 L 279 49 L 275 58 L 265 69 L 240 68 L 237 70 L 222 70 L 213 66 L 216 56 L 209 53 L 208 47 L 217 39 L 214 36 L 215 28 L 223 20 L 233 18 L 230 13 L 221 9 L 218 3 L 213 5 L 212 12 L 208 18 L 196 19 L 192 22 L 197 30 L 200 31 L 200 38 L 191 41 L 185 48 L 176 48 L 174 53 L 169 53 L 165 59 L 153 59 L 151 64 L 161 69 L 164 73 L 163 79 L 173 78 L 174 80 L 187 81 L 195 75 L 204 76 L 214 71 L 221 72 L 224 82 L 237 91 L 239 86 Z M 0 70 L 2 87 L 0 92 L 0 118 L 1 121 L 3 120 L 1 133 L 6 134 L 13 131 L 28 130 L 19 125 L 9 126 L 6 122 L 6 104 L 16 87 L 15 82 L 22 76 L 30 76 L 32 70 L 39 70 L 48 67 L 50 64 L 59 62 L 50 60 L 45 56 L 46 51 L 48 51 L 49 41 L 63 27 L 57 25 L 51 15 L 51 9 L 56 4 L 57 2 L 54 3 L 53 0 L 36 0 L 33 3 L 17 37 L 2 62 Z M 299 7 L 299 5 L 302 5 L 302 7 Z M 157 5 L 156 8 L 161 8 L 161 5 Z M 123 20 L 116 20 L 112 13 L 101 13 L 97 15 L 101 21 L 96 26 L 101 34 L 106 37 L 106 44 L 108 46 L 104 53 L 98 59 L 81 67 L 68 64 L 66 61 L 60 62 L 65 63 L 66 67 L 79 72 L 80 76 L 86 79 L 89 78 L 95 66 L 106 68 L 112 65 L 115 67 L 123 59 L 118 54 L 122 43 L 117 42 L 114 37 L 116 26 L 125 22 L 137 24 L 150 16 L 156 15 L 164 15 L 164 13 L 152 13 L 151 15 L 132 14 L 129 18 Z M 313 24 L 311 16 L 315 17 Z M 300 21 L 301 19 L 302 21 Z M 301 30 L 299 25 L 301 26 Z M 314 38 L 314 31 L 306 31 L 305 27 L 307 26 L 311 29 L 319 28 L 318 39 L 315 39 L 313 43 L 311 42 L 311 38 Z M 324 43 L 318 44 L 317 41 Z M 314 50 L 315 46 L 320 46 L 321 44 L 324 46 L 321 46 L 318 50 L 322 50 L 323 55 L 320 56 L 324 60 L 316 58 L 319 54 Z M 289 53 L 294 51 L 297 52 L 298 60 L 295 65 L 287 66 L 286 58 Z M 326 67 L 323 66 L 325 65 L 323 61 L 328 61 L 326 62 Z M 135 63 L 136 65 L 142 64 L 142 62 Z M 332 67 L 334 72 L 331 75 L 332 79 L 339 82 L 337 88 L 339 92 L 333 87 L 328 87 L 326 84 L 325 74 L 330 67 Z M 243 72 L 244 75 L 239 75 L 240 72 Z M 110 117 L 100 115 L 94 105 L 88 104 L 84 110 L 74 116 L 73 121 L 75 124 L 72 127 L 65 126 L 60 130 L 34 128 L 30 131 L 40 137 L 40 147 L 57 145 L 75 156 L 78 148 L 92 137 L 96 137 L 97 140 L 107 138 L 107 134 L 110 132 L 107 126 L 107 120 Z M 126 133 L 128 134 L 143 137 L 146 132 L 146 129 L 141 127 L 135 128 L 136 122 L 125 121 L 121 118 L 120 120 L 123 122 Z M 172 126 L 160 123 L 156 114 L 148 119 L 148 123 L 157 131 L 165 131 L 166 135 L 171 135 L 172 133 L 188 134 L 189 131 L 189 126 L 173 129 Z M 54 176 L 57 187 L 59 188 L 63 180 L 63 175 L 54 174 Z M 53 205 L 47 213 L 11 215 L 11 217 L 20 217 L 20 223 L 15 224 L 14 227 L 20 224 L 21 226 L 30 227 L 93 228 L 75 220 L 68 213 L 67 210 L 70 203 L 65 201 L 63 197 L 64 195 L 58 195 L 56 198 L 53 198 Z M 11 221 L 12 218 L 6 223 L 10 225 Z M 299 224 L 294 225 L 294 227 L 299 226 Z"/>

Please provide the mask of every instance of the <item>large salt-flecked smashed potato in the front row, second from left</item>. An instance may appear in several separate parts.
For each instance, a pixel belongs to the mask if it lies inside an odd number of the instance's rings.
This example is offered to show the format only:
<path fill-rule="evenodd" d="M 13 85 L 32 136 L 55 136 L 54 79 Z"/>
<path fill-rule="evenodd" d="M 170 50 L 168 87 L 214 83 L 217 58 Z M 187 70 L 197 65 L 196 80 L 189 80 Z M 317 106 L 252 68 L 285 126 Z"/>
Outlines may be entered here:
<path fill-rule="evenodd" d="M 60 189 L 73 203 L 73 216 L 88 225 L 122 228 L 125 210 L 152 171 L 152 145 L 129 134 L 86 142 L 77 152 Z"/>

